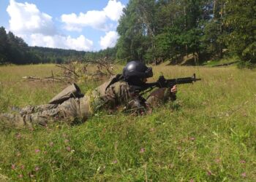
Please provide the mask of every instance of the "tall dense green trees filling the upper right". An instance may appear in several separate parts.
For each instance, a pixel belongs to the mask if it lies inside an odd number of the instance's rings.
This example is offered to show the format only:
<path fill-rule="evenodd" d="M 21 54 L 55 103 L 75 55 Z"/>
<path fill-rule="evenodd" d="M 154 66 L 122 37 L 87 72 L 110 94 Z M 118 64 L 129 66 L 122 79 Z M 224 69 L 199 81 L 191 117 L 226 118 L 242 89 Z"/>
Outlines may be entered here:
<path fill-rule="evenodd" d="M 117 31 L 118 58 L 195 62 L 223 50 L 255 63 L 254 0 L 130 0 Z"/>

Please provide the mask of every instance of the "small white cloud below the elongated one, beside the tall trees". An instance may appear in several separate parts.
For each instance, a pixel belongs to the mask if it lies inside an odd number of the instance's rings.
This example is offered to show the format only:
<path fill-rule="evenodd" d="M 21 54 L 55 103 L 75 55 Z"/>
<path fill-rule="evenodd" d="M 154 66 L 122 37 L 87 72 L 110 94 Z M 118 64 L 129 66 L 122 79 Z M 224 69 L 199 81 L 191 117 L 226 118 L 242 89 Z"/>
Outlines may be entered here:
<path fill-rule="evenodd" d="M 106 49 L 108 47 L 115 47 L 117 39 L 118 33 L 116 31 L 109 31 L 105 34 L 104 37 L 100 37 L 100 47 L 102 47 L 102 49 Z"/>

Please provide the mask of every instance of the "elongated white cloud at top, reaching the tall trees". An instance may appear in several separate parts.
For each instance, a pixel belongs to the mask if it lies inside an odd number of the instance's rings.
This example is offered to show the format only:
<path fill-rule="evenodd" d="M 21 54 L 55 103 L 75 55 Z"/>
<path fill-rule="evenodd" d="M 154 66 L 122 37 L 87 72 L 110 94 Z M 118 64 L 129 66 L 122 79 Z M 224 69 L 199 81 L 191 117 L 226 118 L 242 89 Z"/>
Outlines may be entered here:
<path fill-rule="evenodd" d="M 61 21 L 65 23 L 64 28 L 68 31 L 82 31 L 83 27 L 90 26 L 97 30 L 108 31 L 111 25 L 107 25 L 107 20 L 118 21 L 122 15 L 124 5 L 120 1 L 110 0 L 108 5 L 101 11 L 92 10 L 86 13 L 80 12 L 69 15 L 61 15 Z"/>

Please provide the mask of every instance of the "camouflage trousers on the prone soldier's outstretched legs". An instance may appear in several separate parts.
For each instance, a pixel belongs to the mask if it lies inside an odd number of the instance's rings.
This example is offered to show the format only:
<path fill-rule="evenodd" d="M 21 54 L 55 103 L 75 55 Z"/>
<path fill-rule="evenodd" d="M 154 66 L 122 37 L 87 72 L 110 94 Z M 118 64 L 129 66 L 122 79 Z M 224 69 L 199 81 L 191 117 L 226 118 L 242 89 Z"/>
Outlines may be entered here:
<path fill-rule="evenodd" d="M 56 121 L 72 123 L 75 119 L 80 119 L 83 122 L 89 112 L 80 111 L 80 108 L 85 108 L 85 106 L 80 106 L 81 100 L 84 105 L 86 101 L 84 98 L 69 98 L 61 104 L 28 106 L 22 108 L 19 114 L 0 114 L 0 123 L 11 127 L 32 127 L 34 124 L 45 126 Z M 89 109 L 89 107 L 86 108 Z"/>

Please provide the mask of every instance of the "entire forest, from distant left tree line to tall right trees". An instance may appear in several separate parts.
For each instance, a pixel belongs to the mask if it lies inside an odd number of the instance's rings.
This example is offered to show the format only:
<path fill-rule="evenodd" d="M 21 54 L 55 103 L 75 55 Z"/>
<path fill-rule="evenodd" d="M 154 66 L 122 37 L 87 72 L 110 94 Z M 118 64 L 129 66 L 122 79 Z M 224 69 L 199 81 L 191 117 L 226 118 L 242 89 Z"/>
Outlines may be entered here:
<path fill-rule="evenodd" d="M 255 0 L 130 0 L 117 27 L 116 47 L 81 52 L 29 47 L 0 28 L 0 63 L 67 63 L 72 60 L 142 60 L 178 64 L 190 58 L 236 57 L 256 63 Z"/>

